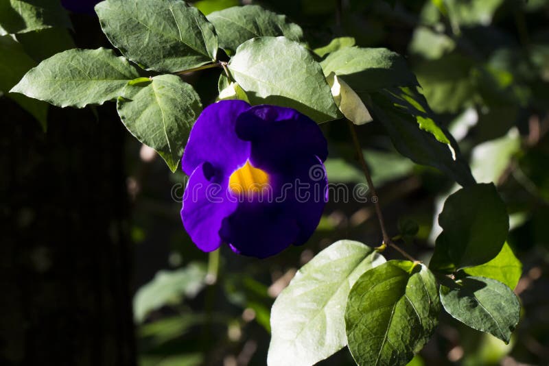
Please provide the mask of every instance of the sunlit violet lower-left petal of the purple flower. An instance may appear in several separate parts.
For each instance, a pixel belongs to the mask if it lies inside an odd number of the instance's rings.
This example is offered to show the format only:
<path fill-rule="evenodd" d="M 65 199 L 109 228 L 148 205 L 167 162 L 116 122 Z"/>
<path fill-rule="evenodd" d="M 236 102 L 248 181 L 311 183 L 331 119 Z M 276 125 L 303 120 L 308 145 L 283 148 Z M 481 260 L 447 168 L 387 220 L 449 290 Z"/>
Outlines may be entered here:
<path fill-rule="evenodd" d="M 209 162 L 198 165 L 185 188 L 181 208 L 185 230 L 204 252 L 220 247 L 222 221 L 237 209 L 237 202 L 227 198 L 227 180 L 211 182 L 215 175 L 218 174 Z"/>

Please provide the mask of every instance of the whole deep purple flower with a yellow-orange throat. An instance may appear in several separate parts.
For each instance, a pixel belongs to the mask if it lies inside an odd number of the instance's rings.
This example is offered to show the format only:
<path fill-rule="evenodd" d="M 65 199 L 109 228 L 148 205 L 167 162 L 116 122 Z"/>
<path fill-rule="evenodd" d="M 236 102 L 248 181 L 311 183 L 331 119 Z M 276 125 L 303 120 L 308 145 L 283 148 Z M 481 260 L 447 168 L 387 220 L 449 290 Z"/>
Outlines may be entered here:
<path fill-rule="evenodd" d="M 292 108 L 212 104 L 183 154 L 185 229 L 204 252 L 227 243 L 265 258 L 305 243 L 327 201 L 327 154 L 318 125 Z"/>

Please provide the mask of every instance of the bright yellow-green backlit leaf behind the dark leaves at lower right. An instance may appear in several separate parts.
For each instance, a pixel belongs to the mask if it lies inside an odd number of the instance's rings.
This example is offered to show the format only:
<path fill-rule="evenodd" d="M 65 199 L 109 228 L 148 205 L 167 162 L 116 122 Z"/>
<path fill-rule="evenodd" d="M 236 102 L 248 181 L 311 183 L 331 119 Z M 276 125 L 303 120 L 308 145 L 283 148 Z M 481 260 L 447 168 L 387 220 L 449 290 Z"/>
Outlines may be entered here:
<path fill-rule="evenodd" d="M 515 289 L 522 275 L 522 263 L 513 254 L 509 244 L 504 243 L 501 252 L 484 265 L 464 269 L 471 276 L 493 278 Z"/>

